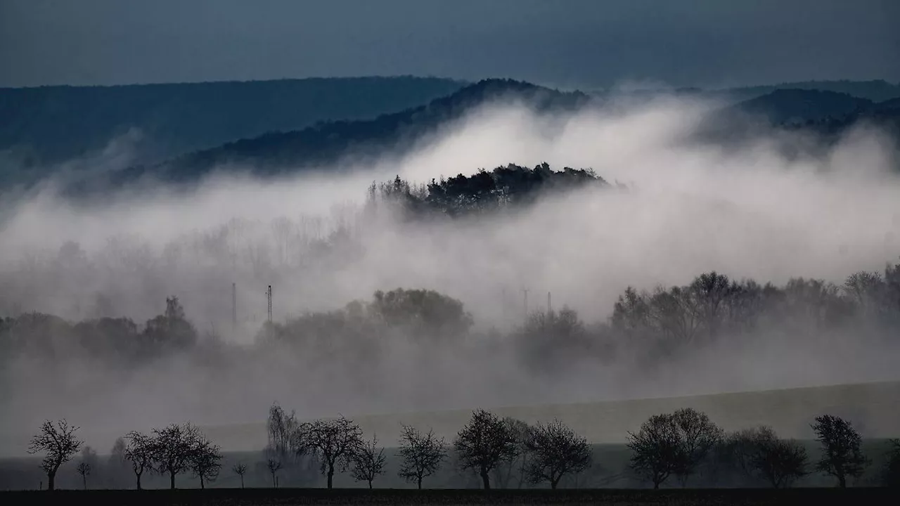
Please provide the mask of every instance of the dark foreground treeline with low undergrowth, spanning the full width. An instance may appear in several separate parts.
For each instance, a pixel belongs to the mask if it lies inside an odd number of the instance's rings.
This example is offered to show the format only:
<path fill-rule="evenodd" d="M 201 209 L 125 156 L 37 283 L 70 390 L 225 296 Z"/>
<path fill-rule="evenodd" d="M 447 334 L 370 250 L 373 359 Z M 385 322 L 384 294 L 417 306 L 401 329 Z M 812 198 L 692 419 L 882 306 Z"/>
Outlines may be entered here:
<path fill-rule="evenodd" d="M 123 487 L 122 474 L 128 468 L 132 486 L 138 490 L 142 478 L 152 474 L 165 476 L 173 490 L 178 474 L 193 474 L 200 488 L 205 488 L 222 471 L 237 476 L 241 488 L 248 471 L 256 486 L 263 486 L 261 474 L 270 475 L 266 486 L 273 488 L 324 485 L 331 489 L 337 474 L 350 474 L 356 483 L 372 489 L 389 471 L 418 489 L 435 483 L 438 474 L 444 478 L 437 480 L 437 486 L 446 485 L 453 471 L 450 483 L 455 487 L 556 489 L 562 484 L 577 488 L 581 474 L 598 470 L 607 480 L 625 479 L 633 486 L 654 489 L 679 485 L 778 489 L 815 474 L 841 488 L 900 486 L 900 439 L 879 447 L 876 482 L 860 483 L 873 460 L 851 421 L 824 414 L 810 427 L 815 432 L 815 449 L 779 438 L 765 425 L 726 433 L 706 413 L 683 408 L 653 415 L 628 432 L 627 463 L 623 463 L 599 453 L 598 447 L 557 419 L 529 424 L 476 410 L 451 441 L 430 428 L 402 425 L 396 445 L 389 448 L 379 443 L 377 435 L 365 438 L 354 420 L 340 416 L 300 421 L 276 402 L 266 420 L 266 448 L 233 458 L 230 468 L 223 467 L 220 447 L 190 423 L 154 429 L 151 434 L 131 431 L 115 441 L 103 462 L 77 438 L 79 428 L 66 420 L 47 420 L 31 439 L 29 451 L 43 456 L 40 469 L 48 477 L 49 490 L 55 489 L 58 471 L 69 461 L 76 461 L 75 472 L 85 490 L 92 471 L 106 474 L 102 488 Z M 79 450 L 80 458 L 76 458 Z M 610 474 L 610 469 L 621 472 Z M 231 480 L 229 484 L 236 488 L 238 483 Z"/>

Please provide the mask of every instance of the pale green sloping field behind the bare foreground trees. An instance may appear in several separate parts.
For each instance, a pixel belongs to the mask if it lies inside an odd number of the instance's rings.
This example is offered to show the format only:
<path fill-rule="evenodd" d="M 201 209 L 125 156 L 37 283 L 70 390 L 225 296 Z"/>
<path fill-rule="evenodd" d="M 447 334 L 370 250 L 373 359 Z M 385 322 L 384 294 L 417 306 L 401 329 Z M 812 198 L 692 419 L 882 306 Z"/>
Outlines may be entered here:
<path fill-rule="evenodd" d="M 628 431 L 638 429 L 651 415 L 687 407 L 706 412 L 725 430 L 767 424 L 783 438 L 812 438 L 809 425 L 816 416 L 824 413 L 851 420 L 865 438 L 900 436 L 900 382 L 629 401 L 483 407 L 501 416 L 515 417 L 529 423 L 559 418 L 591 442 L 601 444 L 624 443 Z M 471 414 L 470 410 L 420 411 L 356 415 L 352 418 L 367 434 L 377 433 L 379 439 L 390 445 L 399 437 L 401 423 L 432 428 L 437 435 L 450 439 Z M 265 413 L 262 413 L 259 423 L 204 427 L 203 430 L 229 450 L 256 450 L 266 446 L 264 417 Z"/>

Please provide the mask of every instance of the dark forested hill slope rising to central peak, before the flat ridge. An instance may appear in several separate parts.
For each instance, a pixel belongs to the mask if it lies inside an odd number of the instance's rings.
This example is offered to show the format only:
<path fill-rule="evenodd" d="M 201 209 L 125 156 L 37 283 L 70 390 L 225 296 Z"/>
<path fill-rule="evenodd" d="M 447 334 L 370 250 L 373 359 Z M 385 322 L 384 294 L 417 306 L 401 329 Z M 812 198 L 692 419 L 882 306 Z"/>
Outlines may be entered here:
<path fill-rule="evenodd" d="M 79 191 L 97 185 L 122 185 L 142 177 L 189 183 L 223 166 L 251 168 L 257 175 L 273 175 L 285 169 L 328 164 L 354 154 L 378 155 L 384 149 L 404 149 L 460 118 L 473 108 L 493 100 L 515 100 L 536 111 L 572 111 L 590 100 L 581 92 L 560 92 L 510 79 L 485 79 L 465 86 L 428 104 L 388 113 L 371 120 L 320 122 L 314 126 L 229 142 L 157 164 L 129 167 L 103 181 L 82 183 Z"/>

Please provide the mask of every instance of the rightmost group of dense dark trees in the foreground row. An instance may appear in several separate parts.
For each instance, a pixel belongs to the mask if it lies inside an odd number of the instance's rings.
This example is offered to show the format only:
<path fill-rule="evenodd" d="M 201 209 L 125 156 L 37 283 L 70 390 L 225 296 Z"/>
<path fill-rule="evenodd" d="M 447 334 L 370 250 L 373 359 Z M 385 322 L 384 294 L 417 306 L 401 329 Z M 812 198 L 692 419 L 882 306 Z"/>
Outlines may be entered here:
<path fill-rule="evenodd" d="M 815 471 L 834 476 L 839 486 L 846 487 L 848 478 L 859 477 L 869 465 L 860 433 L 851 422 L 826 414 L 816 417 L 812 429 L 822 446 L 822 456 L 812 467 Z M 632 468 L 653 488 L 671 476 L 685 486 L 705 464 L 734 465 L 775 488 L 789 486 L 811 471 L 806 448 L 797 441 L 781 439 L 767 426 L 726 435 L 706 413 L 691 408 L 653 415 L 640 430 L 629 433 L 628 447 Z"/>

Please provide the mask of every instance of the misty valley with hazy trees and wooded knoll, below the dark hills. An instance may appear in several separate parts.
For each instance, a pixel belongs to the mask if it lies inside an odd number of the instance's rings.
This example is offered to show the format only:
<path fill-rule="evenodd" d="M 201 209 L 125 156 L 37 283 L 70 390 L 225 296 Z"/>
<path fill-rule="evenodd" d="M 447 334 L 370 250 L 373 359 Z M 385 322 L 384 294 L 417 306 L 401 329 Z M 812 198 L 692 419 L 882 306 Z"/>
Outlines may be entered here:
<path fill-rule="evenodd" d="M 722 148 L 713 101 L 516 97 L 362 161 L 4 199 L 5 431 L 900 379 L 895 138 Z"/>

